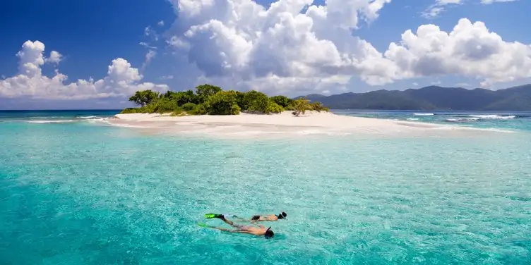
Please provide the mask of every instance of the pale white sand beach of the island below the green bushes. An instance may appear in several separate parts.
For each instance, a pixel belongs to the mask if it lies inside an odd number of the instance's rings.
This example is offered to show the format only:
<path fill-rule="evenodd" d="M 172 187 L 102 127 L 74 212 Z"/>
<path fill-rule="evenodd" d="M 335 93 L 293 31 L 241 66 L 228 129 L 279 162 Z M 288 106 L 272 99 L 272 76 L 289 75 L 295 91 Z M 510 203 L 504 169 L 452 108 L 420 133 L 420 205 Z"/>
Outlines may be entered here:
<path fill-rule="evenodd" d="M 464 128 L 410 121 L 361 118 L 316 111 L 293 116 L 291 111 L 271 115 L 240 113 L 233 116 L 170 116 L 157 113 L 117 114 L 117 126 L 145 128 L 151 132 L 205 133 L 237 137 L 288 135 L 473 136 L 503 131 Z"/>

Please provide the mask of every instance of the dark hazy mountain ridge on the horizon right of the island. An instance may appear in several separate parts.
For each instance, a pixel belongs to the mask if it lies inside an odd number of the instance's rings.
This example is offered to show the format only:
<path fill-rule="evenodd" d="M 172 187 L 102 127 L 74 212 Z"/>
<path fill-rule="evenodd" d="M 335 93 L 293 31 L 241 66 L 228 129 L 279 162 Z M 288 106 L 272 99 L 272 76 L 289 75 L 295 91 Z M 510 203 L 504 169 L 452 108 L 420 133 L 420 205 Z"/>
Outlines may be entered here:
<path fill-rule="evenodd" d="M 531 111 L 531 84 L 496 91 L 430 86 L 331 96 L 309 94 L 306 98 L 330 109 Z"/>

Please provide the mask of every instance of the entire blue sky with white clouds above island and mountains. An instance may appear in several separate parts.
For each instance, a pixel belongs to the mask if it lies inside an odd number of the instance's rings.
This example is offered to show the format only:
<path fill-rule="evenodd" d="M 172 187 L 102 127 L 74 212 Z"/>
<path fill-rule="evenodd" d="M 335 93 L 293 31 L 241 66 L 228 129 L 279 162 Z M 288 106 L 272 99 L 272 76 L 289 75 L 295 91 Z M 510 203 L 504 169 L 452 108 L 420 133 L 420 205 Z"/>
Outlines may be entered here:
<path fill-rule="evenodd" d="M 531 83 L 527 0 L 9 0 L 0 109 L 121 109 L 137 90 L 271 96 Z"/>

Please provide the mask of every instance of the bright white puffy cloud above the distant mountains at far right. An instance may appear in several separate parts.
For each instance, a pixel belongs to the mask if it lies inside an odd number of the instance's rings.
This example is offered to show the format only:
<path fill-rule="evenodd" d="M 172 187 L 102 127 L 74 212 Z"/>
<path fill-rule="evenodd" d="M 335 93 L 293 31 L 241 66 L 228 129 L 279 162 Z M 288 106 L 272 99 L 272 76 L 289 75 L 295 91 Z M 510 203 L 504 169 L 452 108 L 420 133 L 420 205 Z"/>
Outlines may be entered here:
<path fill-rule="evenodd" d="M 531 45 L 504 42 L 482 22 L 460 19 L 452 32 L 422 25 L 407 30 L 385 57 L 398 67 L 397 79 L 456 74 L 482 80 L 482 86 L 531 77 Z"/>

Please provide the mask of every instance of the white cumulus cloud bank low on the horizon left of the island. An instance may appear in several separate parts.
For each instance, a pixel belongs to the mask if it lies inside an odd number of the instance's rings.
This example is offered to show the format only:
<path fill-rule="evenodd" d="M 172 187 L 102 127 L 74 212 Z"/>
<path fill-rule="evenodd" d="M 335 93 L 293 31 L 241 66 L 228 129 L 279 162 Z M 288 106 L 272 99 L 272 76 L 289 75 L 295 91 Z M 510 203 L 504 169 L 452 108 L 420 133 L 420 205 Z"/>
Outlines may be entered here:
<path fill-rule="evenodd" d="M 78 80 L 66 84 L 67 76 L 55 70 L 48 78 L 42 75 L 44 63 L 59 63 L 60 54 L 52 51 L 44 58 L 44 43 L 24 42 L 16 56 L 19 58 L 18 75 L 0 80 L 0 97 L 25 99 L 102 99 L 109 97 L 129 97 L 137 90 L 165 91 L 166 85 L 140 82 L 143 78 L 137 68 L 124 58 L 112 60 L 107 76 L 100 80 Z"/>

